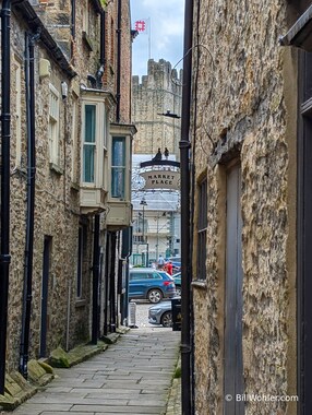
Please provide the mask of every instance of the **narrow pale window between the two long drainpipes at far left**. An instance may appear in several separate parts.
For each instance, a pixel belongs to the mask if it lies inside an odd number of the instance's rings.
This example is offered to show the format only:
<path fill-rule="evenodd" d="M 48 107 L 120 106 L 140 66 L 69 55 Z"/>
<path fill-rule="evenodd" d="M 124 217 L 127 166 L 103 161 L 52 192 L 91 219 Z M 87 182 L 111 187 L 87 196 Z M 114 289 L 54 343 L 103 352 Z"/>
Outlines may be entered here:
<path fill-rule="evenodd" d="M 15 83 L 15 121 L 16 121 L 16 153 L 15 166 L 22 164 L 22 64 L 17 58 L 14 59 L 14 83 Z"/>

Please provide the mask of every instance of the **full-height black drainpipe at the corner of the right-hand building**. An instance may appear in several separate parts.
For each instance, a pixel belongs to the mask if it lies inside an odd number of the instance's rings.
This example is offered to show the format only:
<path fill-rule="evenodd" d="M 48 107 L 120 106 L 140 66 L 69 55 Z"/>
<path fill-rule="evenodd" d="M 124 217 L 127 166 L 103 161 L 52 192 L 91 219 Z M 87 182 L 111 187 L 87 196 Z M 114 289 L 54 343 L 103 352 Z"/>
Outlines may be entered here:
<path fill-rule="evenodd" d="M 192 259 L 190 254 L 190 112 L 191 112 L 191 82 L 192 82 L 192 33 L 193 33 L 193 0 L 185 0 L 184 11 L 184 60 L 183 60 L 183 90 L 182 90 L 182 119 L 181 119 L 181 384 L 182 384 L 182 415 L 193 413 L 192 408 L 192 340 L 191 340 L 191 276 Z M 187 224 L 187 226 L 185 226 Z"/>

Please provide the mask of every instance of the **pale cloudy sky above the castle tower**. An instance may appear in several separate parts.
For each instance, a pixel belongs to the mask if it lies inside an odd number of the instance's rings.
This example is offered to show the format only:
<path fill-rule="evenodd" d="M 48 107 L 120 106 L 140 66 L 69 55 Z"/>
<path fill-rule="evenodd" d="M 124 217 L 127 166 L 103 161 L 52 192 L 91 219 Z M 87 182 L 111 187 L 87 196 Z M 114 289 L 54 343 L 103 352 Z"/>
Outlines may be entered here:
<path fill-rule="evenodd" d="M 149 31 L 133 40 L 132 74 L 147 74 L 149 50 L 152 59 L 165 59 L 173 68 L 183 56 L 184 0 L 130 0 L 130 7 L 132 28 L 136 21 L 151 22 Z M 177 66 L 180 68 L 182 61 Z"/>

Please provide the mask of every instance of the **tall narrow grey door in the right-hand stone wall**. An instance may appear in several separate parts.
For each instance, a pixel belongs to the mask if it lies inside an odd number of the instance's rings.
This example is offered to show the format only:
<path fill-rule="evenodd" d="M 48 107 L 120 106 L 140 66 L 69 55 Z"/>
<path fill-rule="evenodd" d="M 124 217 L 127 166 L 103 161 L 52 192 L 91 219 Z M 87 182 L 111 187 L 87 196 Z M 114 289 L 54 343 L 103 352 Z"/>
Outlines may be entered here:
<path fill-rule="evenodd" d="M 227 171 L 227 236 L 225 295 L 225 415 L 244 414 L 242 363 L 242 222 L 241 169 L 237 164 Z"/>

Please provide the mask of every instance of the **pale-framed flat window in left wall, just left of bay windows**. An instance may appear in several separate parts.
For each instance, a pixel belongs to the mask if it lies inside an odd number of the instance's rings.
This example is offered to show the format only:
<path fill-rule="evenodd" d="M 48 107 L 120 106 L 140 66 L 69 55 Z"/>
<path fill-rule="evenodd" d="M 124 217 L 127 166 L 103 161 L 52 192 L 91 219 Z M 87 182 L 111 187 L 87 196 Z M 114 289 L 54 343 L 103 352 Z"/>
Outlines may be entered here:
<path fill-rule="evenodd" d="M 59 163 L 59 112 L 60 102 L 59 92 L 53 85 L 49 85 L 50 98 L 49 98 L 49 152 L 50 163 L 58 165 Z"/>

